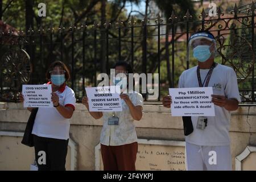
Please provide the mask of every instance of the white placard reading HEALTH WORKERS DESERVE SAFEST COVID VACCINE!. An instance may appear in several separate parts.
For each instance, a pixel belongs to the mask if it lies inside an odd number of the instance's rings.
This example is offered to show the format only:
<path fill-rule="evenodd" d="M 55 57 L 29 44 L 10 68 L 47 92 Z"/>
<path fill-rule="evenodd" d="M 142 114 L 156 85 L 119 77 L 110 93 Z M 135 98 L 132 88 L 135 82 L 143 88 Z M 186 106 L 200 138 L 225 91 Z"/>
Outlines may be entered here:
<path fill-rule="evenodd" d="M 119 86 L 98 86 L 85 88 L 89 111 L 122 111 Z"/>

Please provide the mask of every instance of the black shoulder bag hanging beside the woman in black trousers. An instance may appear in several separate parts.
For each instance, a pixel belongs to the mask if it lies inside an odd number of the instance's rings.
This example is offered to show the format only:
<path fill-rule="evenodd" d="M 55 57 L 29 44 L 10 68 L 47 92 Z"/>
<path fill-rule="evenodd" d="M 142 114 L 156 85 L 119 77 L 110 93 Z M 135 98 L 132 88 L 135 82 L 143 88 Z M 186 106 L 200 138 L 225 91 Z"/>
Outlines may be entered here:
<path fill-rule="evenodd" d="M 28 146 L 28 147 L 34 147 L 34 139 L 32 135 L 32 130 L 35 122 L 36 113 L 38 113 L 38 107 L 35 109 L 32 109 L 30 118 L 28 118 L 27 126 L 24 131 L 24 135 L 22 138 L 22 144 Z"/>

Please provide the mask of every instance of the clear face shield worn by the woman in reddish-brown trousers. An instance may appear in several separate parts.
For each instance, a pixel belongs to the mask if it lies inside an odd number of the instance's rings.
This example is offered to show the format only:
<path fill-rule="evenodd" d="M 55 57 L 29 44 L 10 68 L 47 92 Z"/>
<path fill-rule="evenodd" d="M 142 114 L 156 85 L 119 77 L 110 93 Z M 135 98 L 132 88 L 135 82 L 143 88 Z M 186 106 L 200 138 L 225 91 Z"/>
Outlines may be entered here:
<path fill-rule="evenodd" d="M 121 92 L 127 89 L 127 78 L 128 72 L 124 70 L 115 69 L 114 74 L 112 74 L 112 86 L 120 86 Z"/>

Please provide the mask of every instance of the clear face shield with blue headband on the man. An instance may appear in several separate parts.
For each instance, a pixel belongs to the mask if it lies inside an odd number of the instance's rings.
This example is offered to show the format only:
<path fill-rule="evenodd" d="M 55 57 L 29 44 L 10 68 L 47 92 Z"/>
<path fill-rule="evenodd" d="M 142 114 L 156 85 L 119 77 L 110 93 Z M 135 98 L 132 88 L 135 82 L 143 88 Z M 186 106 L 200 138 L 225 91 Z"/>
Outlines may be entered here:
<path fill-rule="evenodd" d="M 187 61 L 205 62 L 217 54 L 216 41 L 214 39 L 198 36 L 189 40 L 187 48 Z"/>

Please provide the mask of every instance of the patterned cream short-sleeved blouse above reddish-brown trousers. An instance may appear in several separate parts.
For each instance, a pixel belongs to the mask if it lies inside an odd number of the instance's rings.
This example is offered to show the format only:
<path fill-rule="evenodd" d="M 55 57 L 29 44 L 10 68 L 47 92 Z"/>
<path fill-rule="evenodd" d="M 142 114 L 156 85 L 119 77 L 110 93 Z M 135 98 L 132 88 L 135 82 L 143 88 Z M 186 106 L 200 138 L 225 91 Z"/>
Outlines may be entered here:
<path fill-rule="evenodd" d="M 126 93 L 134 106 L 143 106 L 143 97 L 141 94 Z M 131 116 L 129 107 L 124 100 L 122 102 L 122 111 L 115 112 L 115 116 L 119 118 L 119 125 L 108 125 L 108 119 L 112 116 L 112 112 L 104 112 L 104 124 L 101 130 L 100 142 L 105 146 L 120 146 L 137 142 L 137 134 L 134 125 L 134 119 Z"/>

